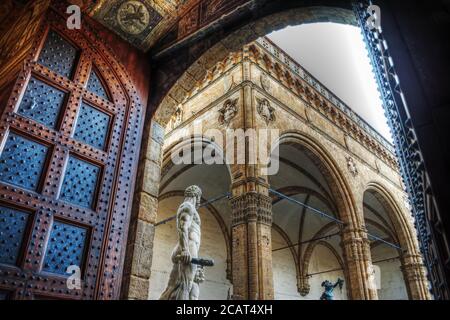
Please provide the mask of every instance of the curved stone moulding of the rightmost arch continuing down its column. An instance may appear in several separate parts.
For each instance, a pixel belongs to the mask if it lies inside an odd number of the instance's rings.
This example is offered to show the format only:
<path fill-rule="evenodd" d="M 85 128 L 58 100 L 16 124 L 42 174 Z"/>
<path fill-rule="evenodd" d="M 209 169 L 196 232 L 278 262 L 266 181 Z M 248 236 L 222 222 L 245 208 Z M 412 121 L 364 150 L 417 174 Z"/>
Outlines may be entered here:
<path fill-rule="evenodd" d="M 370 182 L 364 194 L 366 192 L 370 192 L 382 204 L 393 225 L 394 240 L 397 240 L 401 247 L 398 251 L 409 299 L 430 299 L 417 237 L 411 221 L 408 221 L 407 213 L 401 209 L 392 193 L 382 184 Z"/>

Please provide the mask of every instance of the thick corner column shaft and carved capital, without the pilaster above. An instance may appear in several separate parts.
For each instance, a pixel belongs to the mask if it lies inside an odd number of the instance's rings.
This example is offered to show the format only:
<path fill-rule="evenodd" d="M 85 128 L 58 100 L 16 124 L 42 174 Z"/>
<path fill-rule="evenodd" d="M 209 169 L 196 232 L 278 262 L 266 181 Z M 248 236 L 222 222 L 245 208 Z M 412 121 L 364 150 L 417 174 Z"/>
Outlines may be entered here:
<path fill-rule="evenodd" d="M 233 299 L 273 299 L 272 200 L 250 191 L 231 207 Z"/>

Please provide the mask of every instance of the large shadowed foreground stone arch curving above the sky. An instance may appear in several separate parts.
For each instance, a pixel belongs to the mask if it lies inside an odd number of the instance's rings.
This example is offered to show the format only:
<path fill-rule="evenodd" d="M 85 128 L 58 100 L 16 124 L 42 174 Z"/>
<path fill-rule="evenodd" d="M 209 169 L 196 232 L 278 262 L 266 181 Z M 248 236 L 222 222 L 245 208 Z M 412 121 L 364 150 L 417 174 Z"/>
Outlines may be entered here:
<path fill-rule="evenodd" d="M 150 103 L 155 110 L 154 121 L 162 126 L 167 125 L 177 106 L 186 99 L 196 82 L 203 80 L 209 68 L 231 52 L 240 50 L 244 45 L 259 37 L 290 25 L 306 23 L 335 22 L 357 25 L 356 17 L 351 10 L 351 1 L 331 3 L 316 1 L 315 6 L 305 6 L 303 3 L 294 2 L 286 1 L 286 3 L 278 4 L 275 12 L 272 10 L 261 17 L 255 17 L 254 21 L 250 21 L 240 29 L 223 35 L 223 38 L 215 44 L 207 43 L 200 50 L 189 52 L 190 59 L 186 66 L 182 67 L 182 70 L 174 71 L 178 74 L 158 70 L 158 76 L 163 75 L 166 81 L 161 83 L 162 88 L 153 90 L 157 94 L 150 98 Z M 173 69 L 173 65 L 168 67 L 168 70 Z"/>

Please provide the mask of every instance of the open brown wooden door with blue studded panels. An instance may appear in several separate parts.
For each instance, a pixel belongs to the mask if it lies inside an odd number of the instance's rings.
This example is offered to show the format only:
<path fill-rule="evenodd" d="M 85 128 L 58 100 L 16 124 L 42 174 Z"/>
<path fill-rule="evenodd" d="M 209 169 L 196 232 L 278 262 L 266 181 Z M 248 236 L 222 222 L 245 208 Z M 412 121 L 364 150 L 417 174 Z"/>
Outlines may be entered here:
<path fill-rule="evenodd" d="M 0 299 L 119 297 L 135 92 L 88 25 L 70 31 L 49 10 L 0 119 Z"/>

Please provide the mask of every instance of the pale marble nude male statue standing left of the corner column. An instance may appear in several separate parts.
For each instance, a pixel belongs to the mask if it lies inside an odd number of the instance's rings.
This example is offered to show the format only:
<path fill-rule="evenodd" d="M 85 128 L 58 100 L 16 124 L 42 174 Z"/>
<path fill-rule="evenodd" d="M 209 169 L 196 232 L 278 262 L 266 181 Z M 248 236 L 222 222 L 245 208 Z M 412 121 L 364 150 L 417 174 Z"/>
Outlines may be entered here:
<path fill-rule="evenodd" d="M 177 211 L 178 243 L 172 251 L 172 271 L 160 300 L 197 300 L 203 269 L 192 263 L 200 248 L 200 205 L 202 191 L 192 185 L 184 191 L 184 201 Z"/>

